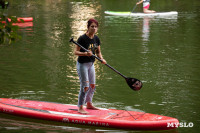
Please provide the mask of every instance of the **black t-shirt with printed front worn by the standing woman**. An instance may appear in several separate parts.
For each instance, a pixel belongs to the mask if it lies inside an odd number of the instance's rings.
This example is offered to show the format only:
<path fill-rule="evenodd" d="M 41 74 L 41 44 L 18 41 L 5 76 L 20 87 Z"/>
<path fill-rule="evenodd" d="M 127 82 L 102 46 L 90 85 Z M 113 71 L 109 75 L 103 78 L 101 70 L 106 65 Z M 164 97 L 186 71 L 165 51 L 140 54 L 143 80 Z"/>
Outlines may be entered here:
<path fill-rule="evenodd" d="M 78 38 L 77 42 L 84 48 L 92 51 L 93 54 L 95 54 L 97 47 L 100 45 L 100 39 L 96 35 L 94 35 L 93 39 L 90 39 L 86 34 L 83 34 L 82 36 Z M 81 48 L 80 52 L 85 52 L 85 51 Z M 87 63 L 87 62 L 94 62 L 94 61 L 95 61 L 95 57 L 93 56 L 79 56 L 78 57 L 79 63 Z"/>

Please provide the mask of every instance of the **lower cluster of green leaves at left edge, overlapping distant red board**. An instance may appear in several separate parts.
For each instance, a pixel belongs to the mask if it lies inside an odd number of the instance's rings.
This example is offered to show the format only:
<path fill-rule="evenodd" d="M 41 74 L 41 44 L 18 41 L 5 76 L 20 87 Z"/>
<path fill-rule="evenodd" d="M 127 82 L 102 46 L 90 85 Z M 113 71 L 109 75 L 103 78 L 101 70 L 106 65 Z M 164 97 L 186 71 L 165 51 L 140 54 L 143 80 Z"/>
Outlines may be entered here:
<path fill-rule="evenodd" d="M 23 22 L 23 20 L 21 21 Z M 5 14 L 0 15 L 0 45 L 11 44 L 16 40 L 21 39 L 21 36 L 17 33 L 19 27 L 13 25 L 16 22 L 16 17 L 8 17 Z"/>

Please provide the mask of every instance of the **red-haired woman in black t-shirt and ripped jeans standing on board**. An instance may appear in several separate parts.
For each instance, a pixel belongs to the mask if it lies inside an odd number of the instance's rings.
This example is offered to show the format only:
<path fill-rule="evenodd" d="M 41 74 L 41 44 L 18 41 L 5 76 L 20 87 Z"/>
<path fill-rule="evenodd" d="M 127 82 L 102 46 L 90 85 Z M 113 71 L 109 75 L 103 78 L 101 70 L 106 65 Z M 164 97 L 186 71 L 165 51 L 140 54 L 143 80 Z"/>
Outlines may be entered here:
<path fill-rule="evenodd" d="M 74 54 L 78 56 L 77 72 L 80 80 L 80 92 L 78 97 L 78 112 L 82 114 L 88 114 L 83 108 L 83 105 L 87 103 L 87 109 L 98 109 L 92 105 L 92 98 L 95 91 L 95 57 L 92 54 L 96 54 L 103 64 L 106 61 L 103 59 L 100 48 L 100 39 L 98 38 L 98 21 L 95 19 L 89 19 L 87 23 L 87 32 L 78 38 L 78 43 L 90 52 L 85 52 L 79 46 L 76 46 Z"/>

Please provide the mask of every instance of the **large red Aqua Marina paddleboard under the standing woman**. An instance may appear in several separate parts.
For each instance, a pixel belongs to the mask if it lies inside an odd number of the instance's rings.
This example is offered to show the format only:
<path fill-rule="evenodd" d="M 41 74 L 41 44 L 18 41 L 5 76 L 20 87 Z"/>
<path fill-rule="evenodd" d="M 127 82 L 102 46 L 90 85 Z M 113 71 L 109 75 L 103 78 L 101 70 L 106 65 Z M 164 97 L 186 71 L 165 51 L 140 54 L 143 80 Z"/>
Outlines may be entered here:
<path fill-rule="evenodd" d="M 76 105 L 0 98 L 0 112 L 43 120 L 131 130 L 168 130 L 179 124 L 175 118 L 145 112 L 102 108 L 86 111 L 89 114 L 78 113 Z"/>

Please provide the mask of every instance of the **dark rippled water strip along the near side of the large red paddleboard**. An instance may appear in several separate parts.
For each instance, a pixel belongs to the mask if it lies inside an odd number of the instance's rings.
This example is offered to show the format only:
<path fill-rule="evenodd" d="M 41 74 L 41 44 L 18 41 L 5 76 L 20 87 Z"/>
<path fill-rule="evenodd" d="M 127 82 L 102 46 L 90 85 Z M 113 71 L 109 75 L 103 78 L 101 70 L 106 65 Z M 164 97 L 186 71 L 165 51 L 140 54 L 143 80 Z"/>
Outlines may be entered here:
<path fill-rule="evenodd" d="M 3 116 L 4 115 L 4 116 Z M 79 132 L 79 133 L 95 133 L 95 132 L 120 132 L 126 133 L 127 131 L 107 129 L 103 127 L 95 128 L 91 126 L 79 125 L 70 123 L 60 123 L 51 121 L 42 121 L 37 119 L 28 119 L 20 117 L 12 117 L 0 113 L 0 131 L 4 132 Z"/>

